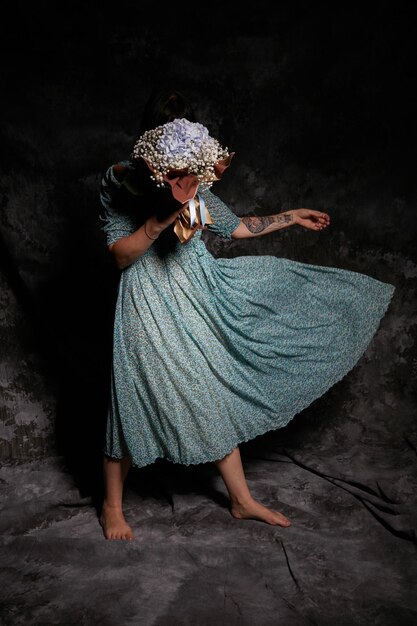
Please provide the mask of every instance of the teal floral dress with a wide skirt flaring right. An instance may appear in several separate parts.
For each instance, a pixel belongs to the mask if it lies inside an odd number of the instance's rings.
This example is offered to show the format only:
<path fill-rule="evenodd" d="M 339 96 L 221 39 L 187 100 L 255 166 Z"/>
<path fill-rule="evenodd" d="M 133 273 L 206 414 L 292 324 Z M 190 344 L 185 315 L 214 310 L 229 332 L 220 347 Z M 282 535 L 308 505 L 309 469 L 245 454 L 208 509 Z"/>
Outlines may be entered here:
<path fill-rule="evenodd" d="M 138 228 L 120 207 L 122 187 L 110 167 L 100 196 L 107 245 Z M 240 218 L 211 190 L 202 195 L 209 230 L 231 239 Z M 395 291 L 272 255 L 215 258 L 201 234 L 164 259 L 151 245 L 120 272 L 103 452 L 135 467 L 214 461 L 284 427 L 354 367 Z"/>

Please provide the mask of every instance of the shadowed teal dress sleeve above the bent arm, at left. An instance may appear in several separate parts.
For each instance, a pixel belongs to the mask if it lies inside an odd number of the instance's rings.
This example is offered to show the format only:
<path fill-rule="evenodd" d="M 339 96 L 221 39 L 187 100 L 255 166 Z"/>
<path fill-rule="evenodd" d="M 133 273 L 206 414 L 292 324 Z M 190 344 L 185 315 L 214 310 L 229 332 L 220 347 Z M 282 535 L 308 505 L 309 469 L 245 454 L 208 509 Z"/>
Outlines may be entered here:
<path fill-rule="evenodd" d="M 124 165 L 129 169 L 130 162 L 120 161 L 119 165 Z M 100 202 L 102 210 L 99 215 L 99 219 L 103 222 L 100 230 L 105 233 L 108 246 L 122 237 L 131 235 L 137 229 L 132 216 L 124 210 L 125 198 L 126 189 L 123 183 L 115 177 L 113 166 L 110 166 L 101 179 Z"/>

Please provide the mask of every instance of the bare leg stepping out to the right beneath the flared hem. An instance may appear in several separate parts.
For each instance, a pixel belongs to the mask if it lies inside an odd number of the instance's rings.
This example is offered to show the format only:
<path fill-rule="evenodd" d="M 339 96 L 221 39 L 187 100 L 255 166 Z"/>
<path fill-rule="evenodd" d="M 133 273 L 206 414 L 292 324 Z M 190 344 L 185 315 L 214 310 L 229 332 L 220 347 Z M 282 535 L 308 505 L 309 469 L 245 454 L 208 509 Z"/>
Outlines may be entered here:
<path fill-rule="evenodd" d="M 254 500 L 243 472 L 239 448 L 235 448 L 215 465 L 230 495 L 230 512 L 237 519 L 258 519 L 267 524 L 290 526 L 290 520 L 278 511 L 268 509 Z"/>

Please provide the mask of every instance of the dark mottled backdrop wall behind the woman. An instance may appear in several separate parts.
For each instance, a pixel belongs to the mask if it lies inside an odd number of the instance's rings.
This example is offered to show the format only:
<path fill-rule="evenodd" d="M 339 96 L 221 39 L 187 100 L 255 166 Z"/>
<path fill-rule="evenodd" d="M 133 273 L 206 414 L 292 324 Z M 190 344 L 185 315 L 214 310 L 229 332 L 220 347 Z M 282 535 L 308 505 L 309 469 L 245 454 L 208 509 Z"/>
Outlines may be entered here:
<path fill-rule="evenodd" d="M 213 254 L 274 254 L 398 287 L 378 344 L 389 372 L 356 394 L 364 418 L 375 403 L 391 425 L 415 411 L 410 17 L 398 3 L 367 14 L 348 3 L 284 2 L 272 14 L 249 6 L 145 14 L 137 2 L 17 2 L 3 20 L 3 460 L 58 453 L 77 469 L 99 454 L 118 270 L 100 231 L 98 189 L 105 169 L 130 154 L 159 84 L 182 88 L 236 152 L 213 191 L 238 215 L 331 215 L 322 233 L 295 227 L 232 243 L 205 233 Z M 390 404 L 394 388 L 402 406 Z"/>

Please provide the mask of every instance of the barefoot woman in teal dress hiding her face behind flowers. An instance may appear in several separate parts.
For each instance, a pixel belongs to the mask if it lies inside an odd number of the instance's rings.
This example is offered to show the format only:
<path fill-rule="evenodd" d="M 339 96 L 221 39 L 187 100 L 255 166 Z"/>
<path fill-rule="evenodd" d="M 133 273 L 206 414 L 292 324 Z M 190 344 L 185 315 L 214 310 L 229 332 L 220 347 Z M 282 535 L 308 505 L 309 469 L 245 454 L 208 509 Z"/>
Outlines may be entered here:
<path fill-rule="evenodd" d="M 173 120 L 195 122 L 179 91 L 156 92 L 140 135 Z M 180 243 L 184 209 L 156 192 L 143 161 L 110 167 L 102 181 L 102 229 L 121 270 L 114 318 L 111 401 L 103 447 L 107 539 L 133 539 L 122 510 L 130 466 L 157 458 L 215 463 L 236 519 L 289 526 L 257 502 L 238 444 L 282 428 L 359 360 L 394 286 L 357 272 L 272 255 L 214 258 L 202 230 L 225 239 L 260 237 L 298 224 L 321 231 L 323 211 L 238 217 L 212 191 L 211 223 Z"/>

